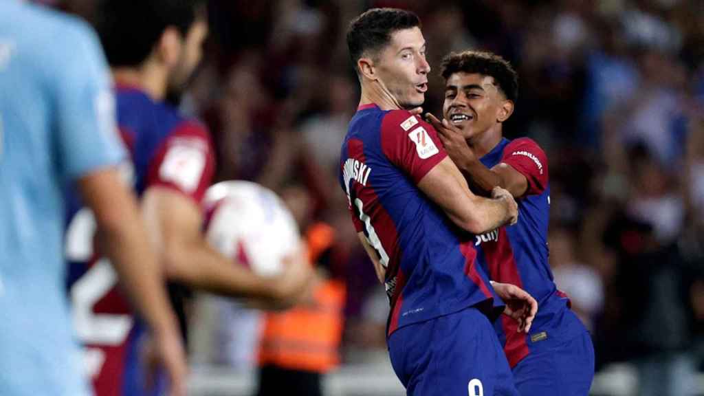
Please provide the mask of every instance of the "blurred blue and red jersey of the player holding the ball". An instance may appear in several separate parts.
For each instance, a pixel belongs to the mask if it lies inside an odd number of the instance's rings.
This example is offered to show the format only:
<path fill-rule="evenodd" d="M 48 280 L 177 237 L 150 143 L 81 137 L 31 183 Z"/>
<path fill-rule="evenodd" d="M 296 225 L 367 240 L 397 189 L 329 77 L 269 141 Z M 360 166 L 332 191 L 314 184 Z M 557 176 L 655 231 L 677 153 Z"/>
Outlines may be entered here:
<path fill-rule="evenodd" d="M 149 187 L 165 187 L 200 205 L 215 168 L 206 128 L 137 88 L 118 88 L 116 99 L 118 126 L 131 154 L 125 178 L 134 191 L 141 195 Z M 127 376 L 138 365 L 139 326 L 111 264 L 94 249 L 92 213 L 75 191 L 68 196 L 68 287 L 94 392 L 133 394 Z"/>

